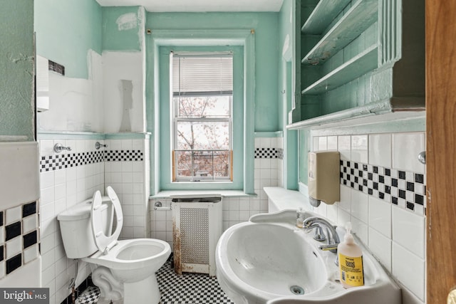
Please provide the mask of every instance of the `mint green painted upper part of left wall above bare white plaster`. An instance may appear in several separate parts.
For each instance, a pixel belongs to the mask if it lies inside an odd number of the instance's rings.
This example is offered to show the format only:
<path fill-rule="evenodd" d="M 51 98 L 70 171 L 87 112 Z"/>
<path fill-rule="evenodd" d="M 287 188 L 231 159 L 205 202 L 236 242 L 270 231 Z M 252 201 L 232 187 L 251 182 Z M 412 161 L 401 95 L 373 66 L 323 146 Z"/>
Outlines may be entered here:
<path fill-rule="evenodd" d="M 34 3 L 36 53 L 64 65 L 66 76 L 87 79 L 88 51 L 102 50 L 101 6 L 95 0 Z"/>

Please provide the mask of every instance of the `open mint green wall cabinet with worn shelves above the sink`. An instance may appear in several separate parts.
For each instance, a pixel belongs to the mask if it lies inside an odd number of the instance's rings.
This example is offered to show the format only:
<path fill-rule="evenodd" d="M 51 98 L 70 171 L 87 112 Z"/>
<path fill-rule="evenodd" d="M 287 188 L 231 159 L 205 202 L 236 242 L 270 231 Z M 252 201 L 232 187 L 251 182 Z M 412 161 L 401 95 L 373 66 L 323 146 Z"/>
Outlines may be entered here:
<path fill-rule="evenodd" d="M 289 129 L 425 110 L 424 0 L 297 0 Z"/>

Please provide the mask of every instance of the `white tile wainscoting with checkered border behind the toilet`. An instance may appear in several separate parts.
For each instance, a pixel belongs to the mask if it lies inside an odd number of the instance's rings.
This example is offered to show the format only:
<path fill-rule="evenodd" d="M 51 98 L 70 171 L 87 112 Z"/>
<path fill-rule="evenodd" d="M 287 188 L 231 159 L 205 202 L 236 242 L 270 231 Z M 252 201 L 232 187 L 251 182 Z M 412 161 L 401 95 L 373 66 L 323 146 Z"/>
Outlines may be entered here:
<path fill-rule="evenodd" d="M 110 185 L 123 208 L 124 226 L 120 238 L 149 234 L 145 216 L 149 196 L 148 139 L 122 136 L 117 140 L 106 139 L 106 135 L 52 134 L 39 140 L 42 285 L 50 288 L 50 303 L 61 303 L 67 298 L 68 282 L 76 272 L 76 263 L 66 258 L 61 240 L 57 221 L 61 211 L 89 199 L 97 190 L 104 194 L 105 187 Z M 96 150 L 95 142 L 107 147 Z M 56 143 L 72 150 L 57 154 L 53 151 Z M 86 263 L 79 264 L 76 285 L 90 275 L 90 267 Z"/>

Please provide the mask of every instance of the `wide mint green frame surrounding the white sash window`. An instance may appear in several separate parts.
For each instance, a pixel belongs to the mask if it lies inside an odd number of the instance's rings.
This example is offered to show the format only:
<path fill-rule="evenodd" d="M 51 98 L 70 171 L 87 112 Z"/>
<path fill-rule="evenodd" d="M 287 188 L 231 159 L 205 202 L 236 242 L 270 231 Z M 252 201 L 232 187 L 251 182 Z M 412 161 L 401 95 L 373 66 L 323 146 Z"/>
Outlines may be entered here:
<path fill-rule="evenodd" d="M 255 35 L 245 29 L 154 30 L 147 39 L 146 117 L 150 140 L 150 193 L 180 190 L 242 190 L 254 194 Z M 170 56 L 170 53 L 174 53 Z M 183 55 L 232 55 L 232 179 L 175 181 L 175 105 L 172 59 Z M 211 56 L 207 56 L 211 57 Z M 185 92 L 185 90 L 180 90 Z M 195 179 L 194 179 L 195 181 Z M 215 193 L 215 192 L 214 192 Z"/>

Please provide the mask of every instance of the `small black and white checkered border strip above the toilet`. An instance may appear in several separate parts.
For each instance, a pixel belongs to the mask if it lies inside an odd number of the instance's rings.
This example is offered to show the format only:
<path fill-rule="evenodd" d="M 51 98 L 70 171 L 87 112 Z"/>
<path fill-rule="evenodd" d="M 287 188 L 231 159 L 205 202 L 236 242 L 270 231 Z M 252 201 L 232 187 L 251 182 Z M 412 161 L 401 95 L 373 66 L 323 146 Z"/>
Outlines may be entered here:
<path fill-rule="evenodd" d="M 40 172 L 47 172 L 98 162 L 138 162 L 144 160 L 141 150 L 108 150 L 41 156 Z"/>

